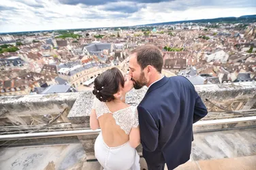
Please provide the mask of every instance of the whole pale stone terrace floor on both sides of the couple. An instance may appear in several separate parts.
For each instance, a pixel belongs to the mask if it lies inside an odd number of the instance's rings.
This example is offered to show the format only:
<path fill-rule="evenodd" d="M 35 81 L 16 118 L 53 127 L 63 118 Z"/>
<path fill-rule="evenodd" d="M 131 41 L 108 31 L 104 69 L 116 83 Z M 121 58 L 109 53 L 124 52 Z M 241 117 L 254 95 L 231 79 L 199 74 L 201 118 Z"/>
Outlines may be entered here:
<path fill-rule="evenodd" d="M 191 160 L 177 170 L 256 169 L 256 129 L 197 133 L 194 137 Z M 3 170 L 101 169 L 97 160 L 85 159 L 81 143 L 0 148 Z M 140 163 L 146 169 L 144 158 Z"/>

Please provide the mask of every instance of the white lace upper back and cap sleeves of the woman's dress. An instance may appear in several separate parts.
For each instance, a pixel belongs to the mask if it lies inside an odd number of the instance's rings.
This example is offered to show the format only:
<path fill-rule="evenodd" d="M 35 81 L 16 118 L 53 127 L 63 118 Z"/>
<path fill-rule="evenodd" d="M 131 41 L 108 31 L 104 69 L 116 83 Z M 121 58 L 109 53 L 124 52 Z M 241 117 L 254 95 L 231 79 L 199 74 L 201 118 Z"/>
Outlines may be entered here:
<path fill-rule="evenodd" d="M 133 106 L 126 107 L 125 109 L 120 109 L 116 112 L 110 112 L 106 103 L 95 99 L 93 102 L 93 109 L 96 111 L 97 118 L 103 114 L 111 113 L 113 115 L 116 124 L 125 131 L 127 135 L 131 132 L 132 127 L 138 127 L 138 112 L 137 108 Z"/>

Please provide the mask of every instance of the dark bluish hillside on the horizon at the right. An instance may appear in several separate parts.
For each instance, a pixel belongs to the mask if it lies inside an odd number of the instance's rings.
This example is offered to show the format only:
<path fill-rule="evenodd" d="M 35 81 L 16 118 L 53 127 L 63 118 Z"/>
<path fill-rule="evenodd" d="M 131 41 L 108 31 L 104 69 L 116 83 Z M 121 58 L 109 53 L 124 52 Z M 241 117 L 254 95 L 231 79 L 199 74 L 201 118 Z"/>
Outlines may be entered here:
<path fill-rule="evenodd" d="M 161 22 L 155 24 L 144 24 L 143 26 L 149 25 L 161 25 L 161 24 L 180 24 L 180 23 L 188 23 L 188 22 L 195 22 L 195 23 L 207 23 L 207 22 L 256 22 L 256 15 L 251 16 L 240 16 L 236 17 L 223 17 L 223 18 L 212 18 L 212 19 L 202 19 L 202 20 L 180 20 L 174 22 Z"/>

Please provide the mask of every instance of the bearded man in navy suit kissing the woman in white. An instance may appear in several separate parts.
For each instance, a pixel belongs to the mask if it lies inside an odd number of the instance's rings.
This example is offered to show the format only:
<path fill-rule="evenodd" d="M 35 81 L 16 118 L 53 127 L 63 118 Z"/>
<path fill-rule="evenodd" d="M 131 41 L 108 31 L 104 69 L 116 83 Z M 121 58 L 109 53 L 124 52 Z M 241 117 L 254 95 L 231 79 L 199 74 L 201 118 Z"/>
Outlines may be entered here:
<path fill-rule="evenodd" d="M 129 74 L 134 88 L 147 86 L 138 105 L 140 138 L 148 169 L 174 169 L 191 154 L 193 123 L 206 116 L 207 109 L 187 78 L 161 74 L 163 57 L 156 46 L 131 51 Z"/>

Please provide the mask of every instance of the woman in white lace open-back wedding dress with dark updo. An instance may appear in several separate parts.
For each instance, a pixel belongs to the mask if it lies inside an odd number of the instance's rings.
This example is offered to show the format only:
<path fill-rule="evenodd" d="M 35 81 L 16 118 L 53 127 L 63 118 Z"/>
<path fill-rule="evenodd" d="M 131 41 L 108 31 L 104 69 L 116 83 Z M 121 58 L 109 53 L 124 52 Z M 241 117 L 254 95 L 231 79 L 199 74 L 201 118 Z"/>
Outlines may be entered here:
<path fill-rule="evenodd" d="M 140 129 L 136 107 L 125 103 L 133 88 L 129 75 L 123 77 L 117 68 L 108 69 L 94 81 L 91 129 L 101 128 L 95 141 L 95 157 L 104 169 L 139 170 Z"/>

